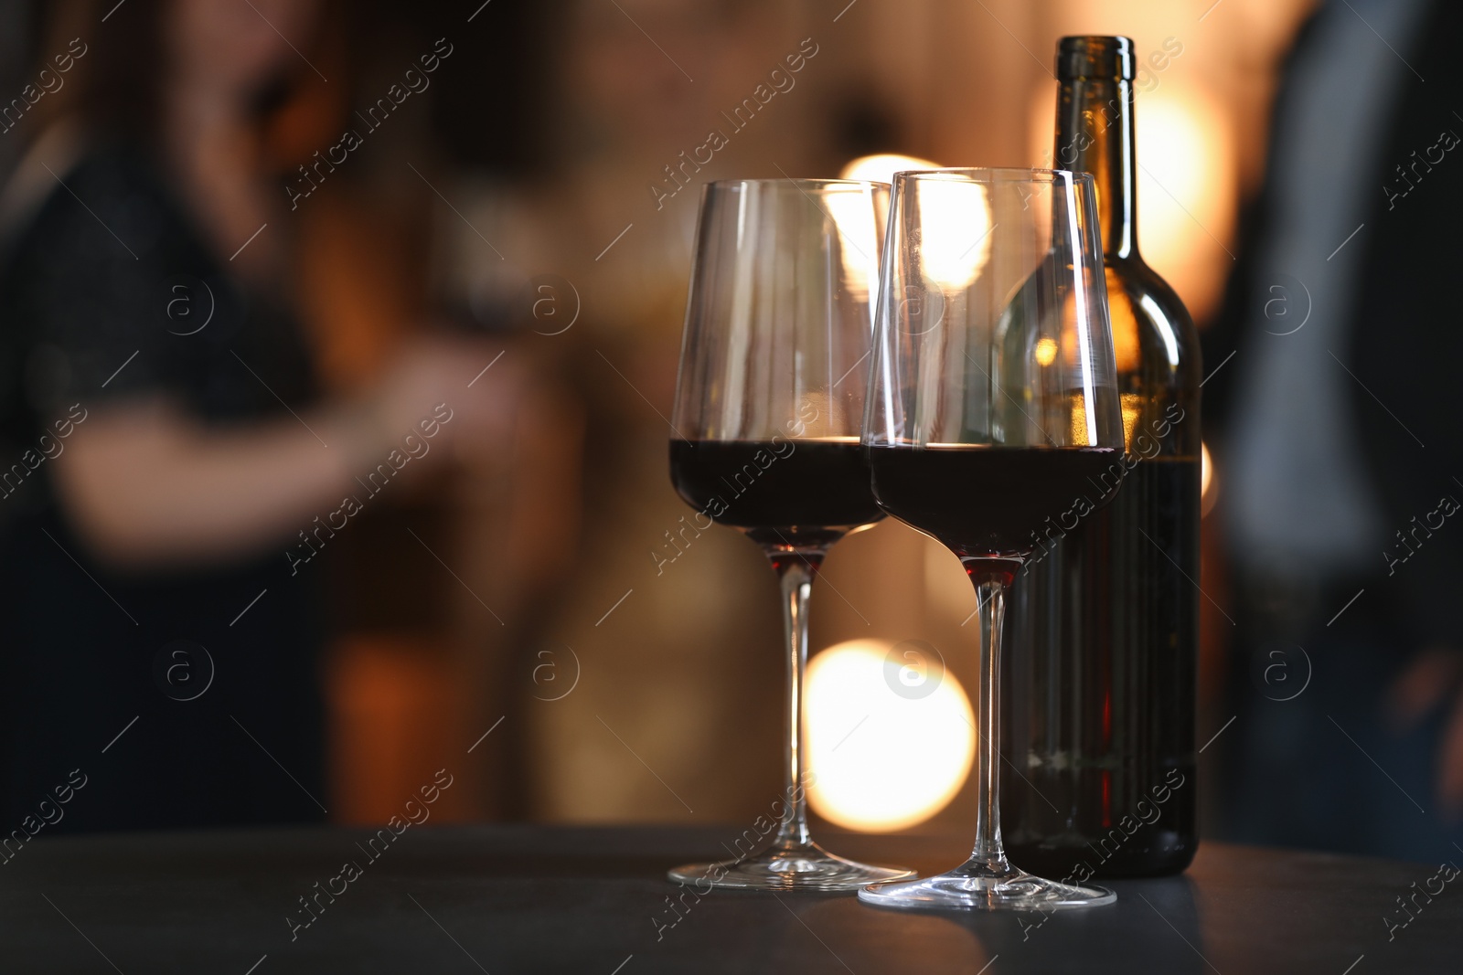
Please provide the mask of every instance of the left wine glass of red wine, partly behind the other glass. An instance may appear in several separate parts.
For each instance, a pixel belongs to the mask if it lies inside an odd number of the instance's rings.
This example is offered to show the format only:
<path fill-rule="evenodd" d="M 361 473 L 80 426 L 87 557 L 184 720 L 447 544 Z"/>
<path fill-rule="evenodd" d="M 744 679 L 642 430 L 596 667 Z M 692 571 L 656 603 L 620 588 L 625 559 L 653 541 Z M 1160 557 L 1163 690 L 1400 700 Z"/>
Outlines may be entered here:
<path fill-rule="evenodd" d="M 762 547 L 783 589 L 787 775 L 775 833 L 672 880 L 853 890 L 911 877 L 834 857 L 808 832 L 808 593 L 828 548 L 884 517 L 859 444 L 890 187 L 727 180 L 701 197 L 670 441 L 676 491 Z M 772 832 L 772 830 L 767 830 Z"/>

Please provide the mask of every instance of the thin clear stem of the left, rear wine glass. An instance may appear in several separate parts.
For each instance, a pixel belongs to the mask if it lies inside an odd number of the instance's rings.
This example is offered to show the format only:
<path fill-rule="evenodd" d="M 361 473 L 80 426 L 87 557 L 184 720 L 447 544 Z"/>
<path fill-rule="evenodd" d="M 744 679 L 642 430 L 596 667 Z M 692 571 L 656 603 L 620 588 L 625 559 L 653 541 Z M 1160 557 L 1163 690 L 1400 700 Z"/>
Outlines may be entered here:
<path fill-rule="evenodd" d="M 808 751 L 803 741 L 803 674 L 808 669 L 808 593 L 813 576 L 822 564 L 824 553 L 768 553 L 783 588 L 783 624 L 787 646 L 787 706 L 783 712 L 787 729 L 787 776 L 784 779 L 786 810 L 777 827 L 774 846 L 808 846 L 808 792 L 803 765 Z"/>

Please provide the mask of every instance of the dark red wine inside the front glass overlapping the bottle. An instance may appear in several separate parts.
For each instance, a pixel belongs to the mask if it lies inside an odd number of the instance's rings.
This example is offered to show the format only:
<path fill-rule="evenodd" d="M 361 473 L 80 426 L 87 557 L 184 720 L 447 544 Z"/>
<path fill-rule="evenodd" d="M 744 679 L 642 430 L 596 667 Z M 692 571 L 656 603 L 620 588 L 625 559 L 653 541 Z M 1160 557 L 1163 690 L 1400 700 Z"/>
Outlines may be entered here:
<path fill-rule="evenodd" d="M 1103 475 L 1113 463 L 1121 477 L 1110 447 L 869 447 L 879 507 L 977 558 L 1030 554 L 1048 517 L 1081 498 L 1096 507 L 1110 493 Z"/>

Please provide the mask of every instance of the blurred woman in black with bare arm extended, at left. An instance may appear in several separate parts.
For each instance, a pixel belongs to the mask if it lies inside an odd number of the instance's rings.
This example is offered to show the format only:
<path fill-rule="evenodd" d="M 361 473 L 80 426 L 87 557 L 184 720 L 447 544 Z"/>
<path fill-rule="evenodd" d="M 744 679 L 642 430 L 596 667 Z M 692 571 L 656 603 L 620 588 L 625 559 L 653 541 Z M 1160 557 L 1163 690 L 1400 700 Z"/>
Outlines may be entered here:
<path fill-rule="evenodd" d="M 398 471 L 490 453 L 514 368 L 418 342 L 320 401 L 265 146 L 319 6 L 102 6 L 50 10 L 72 70 L 0 196 L 4 829 L 317 819 L 309 563 Z"/>

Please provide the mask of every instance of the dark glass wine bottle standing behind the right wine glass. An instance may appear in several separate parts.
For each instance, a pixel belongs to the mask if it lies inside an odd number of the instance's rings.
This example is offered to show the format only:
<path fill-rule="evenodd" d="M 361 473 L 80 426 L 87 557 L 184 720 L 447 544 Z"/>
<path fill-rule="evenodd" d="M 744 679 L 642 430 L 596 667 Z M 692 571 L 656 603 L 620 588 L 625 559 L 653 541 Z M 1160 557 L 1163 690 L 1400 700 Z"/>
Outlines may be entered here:
<path fill-rule="evenodd" d="M 1048 519 L 1014 586 L 1001 817 L 1042 876 L 1170 874 L 1198 845 L 1198 336 L 1138 256 L 1132 41 L 1062 38 L 1056 63 L 1053 165 L 1097 183 L 1127 475 Z"/>

